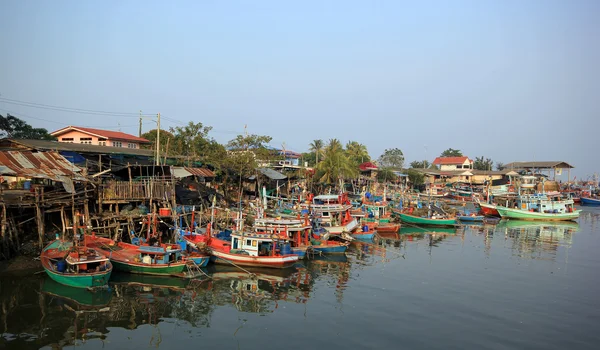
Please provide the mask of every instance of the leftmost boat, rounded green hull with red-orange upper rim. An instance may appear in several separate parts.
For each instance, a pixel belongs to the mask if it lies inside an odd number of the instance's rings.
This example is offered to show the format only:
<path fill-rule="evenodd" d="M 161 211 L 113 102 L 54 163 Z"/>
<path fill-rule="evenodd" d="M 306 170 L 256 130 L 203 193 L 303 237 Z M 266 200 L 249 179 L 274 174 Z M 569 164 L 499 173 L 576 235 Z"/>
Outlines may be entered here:
<path fill-rule="evenodd" d="M 50 278 L 76 288 L 105 286 L 112 272 L 112 264 L 106 256 L 61 239 L 44 247 L 40 260 Z"/>

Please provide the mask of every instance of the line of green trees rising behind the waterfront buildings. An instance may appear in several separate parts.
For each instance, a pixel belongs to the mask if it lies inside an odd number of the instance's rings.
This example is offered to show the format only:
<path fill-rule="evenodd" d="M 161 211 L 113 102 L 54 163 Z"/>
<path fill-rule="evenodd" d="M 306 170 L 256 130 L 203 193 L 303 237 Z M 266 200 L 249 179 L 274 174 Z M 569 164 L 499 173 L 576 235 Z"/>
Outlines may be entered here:
<path fill-rule="evenodd" d="M 272 138 L 266 135 L 244 134 L 237 135 L 226 144 L 217 142 L 210 136 L 212 127 L 201 122 L 189 122 L 184 126 L 160 130 L 159 153 L 164 161 L 174 162 L 174 165 L 201 166 L 208 165 L 219 176 L 225 185 L 225 191 L 236 187 L 236 182 L 242 177 L 256 173 L 262 163 L 269 163 L 285 158 L 280 152 L 270 148 Z M 15 139 L 54 140 L 46 129 L 33 128 L 25 121 L 7 114 L 0 115 L 0 136 Z M 142 137 L 150 141 L 149 149 L 156 148 L 157 130 L 150 130 Z M 441 157 L 461 157 L 462 152 L 448 148 L 440 154 Z M 314 179 L 319 183 L 335 184 L 342 179 L 357 178 L 359 165 L 373 162 L 367 146 L 348 141 L 345 145 L 339 139 L 332 138 L 327 142 L 321 139 L 309 144 L 309 151 L 301 154 L 300 161 L 314 167 Z M 398 177 L 394 172 L 401 171 L 408 175 L 413 184 L 423 182 L 423 175 L 415 169 L 434 168 L 428 160 L 413 161 L 408 169 L 404 168 L 404 153 L 399 148 L 388 148 L 376 159 L 377 177 L 380 181 L 393 181 Z M 474 169 L 492 170 L 494 162 L 490 158 L 476 157 Z M 500 162 L 495 163 L 496 169 L 503 169 Z"/>

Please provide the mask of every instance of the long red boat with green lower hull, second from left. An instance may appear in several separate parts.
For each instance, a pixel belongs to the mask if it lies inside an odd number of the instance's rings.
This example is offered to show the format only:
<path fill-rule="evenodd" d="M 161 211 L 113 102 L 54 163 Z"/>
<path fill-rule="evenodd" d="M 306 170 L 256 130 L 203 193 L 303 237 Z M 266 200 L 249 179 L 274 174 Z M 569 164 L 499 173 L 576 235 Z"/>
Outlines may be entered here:
<path fill-rule="evenodd" d="M 177 277 L 195 277 L 201 274 L 199 266 L 193 260 L 185 258 L 178 244 L 136 245 L 115 242 L 93 234 L 86 238 L 86 245 L 106 254 L 119 271 Z"/>

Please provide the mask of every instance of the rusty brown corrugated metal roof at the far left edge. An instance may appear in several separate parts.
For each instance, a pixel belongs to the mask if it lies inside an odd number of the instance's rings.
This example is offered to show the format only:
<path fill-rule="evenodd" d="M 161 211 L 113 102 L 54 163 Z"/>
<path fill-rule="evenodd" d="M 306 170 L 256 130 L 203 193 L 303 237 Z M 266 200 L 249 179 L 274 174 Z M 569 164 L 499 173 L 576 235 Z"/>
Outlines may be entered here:
<path fill-rule="evenodd" d="M 59 182 L 85 181 L 81 168 L 58 152 L 0 151 L 0 171 L 5 175 L 50 179 Z"/>

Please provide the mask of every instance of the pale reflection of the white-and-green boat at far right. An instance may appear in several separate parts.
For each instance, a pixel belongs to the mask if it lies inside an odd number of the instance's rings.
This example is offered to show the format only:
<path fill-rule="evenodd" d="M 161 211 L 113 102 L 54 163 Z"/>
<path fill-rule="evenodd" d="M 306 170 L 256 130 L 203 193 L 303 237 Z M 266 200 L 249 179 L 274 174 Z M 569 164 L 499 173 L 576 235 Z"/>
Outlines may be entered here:
<path fill-rule="evenodd" d="M 513 252 L 519 257 L 554 259 L 559 247 L 571 246 L 577 231 L 579 224 L 574 221 L 502 220 L 493 232 L 511 238 Z"/>

